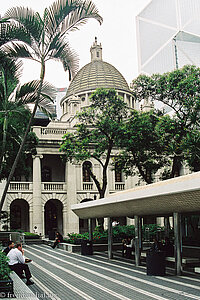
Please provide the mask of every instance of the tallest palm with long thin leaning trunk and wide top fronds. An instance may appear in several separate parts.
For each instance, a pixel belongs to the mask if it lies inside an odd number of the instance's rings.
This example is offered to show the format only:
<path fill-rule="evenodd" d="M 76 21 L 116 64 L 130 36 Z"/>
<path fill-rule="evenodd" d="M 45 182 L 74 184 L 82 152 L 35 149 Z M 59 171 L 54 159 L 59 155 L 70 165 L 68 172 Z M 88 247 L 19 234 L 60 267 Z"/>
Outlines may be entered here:
<path fill-rule="evenodd" d="M 69 79 L 71 80 L 78 69 L 78 61 L 75 52 L 69 47 L 66 36 L 70 31 L 76 30 L 80 25 L 85 24 L 90 18 L 96 19 L 100 24 L 102 23 L 102 17 L 98 14 L 98 10 L 92 1 L 82 0 L 57 0 L 44 10 L 43 17 L 38 12 L 35 13 L 32 9 L 25 7 L 11 8 L 4 16 L 4 19 L 9 20 L 10 24 L 13 25 L 18 40 L 3 45 L 3 50 L 11 57 L 29 58 L 39 62 L 41 72 L 37 100 L 13 168 L 7 179 L 0 210 L 2 210 L 10 180 L 37 110 L 45 76 L 45 63 L 50 59 L 60 60 L 64 70 L 69 72 Z M 9 26 L 8 28 L 10 29 Z M 20 31 L 21 37 L 19 36 Z"/>

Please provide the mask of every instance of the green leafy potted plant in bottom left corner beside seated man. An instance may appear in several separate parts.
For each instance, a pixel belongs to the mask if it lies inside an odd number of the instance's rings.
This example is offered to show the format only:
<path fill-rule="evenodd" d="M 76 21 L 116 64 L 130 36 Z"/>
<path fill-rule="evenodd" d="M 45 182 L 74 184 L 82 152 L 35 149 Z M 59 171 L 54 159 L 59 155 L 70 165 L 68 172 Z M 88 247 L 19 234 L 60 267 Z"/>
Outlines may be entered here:
<path fill-rule="evenodd" d="M 0 295 L 1 298 L 10 297 L 13 294 L 13 281 L 10 278 L 11 269 L 8 265 L 8 257 L 0 249 Z"/>

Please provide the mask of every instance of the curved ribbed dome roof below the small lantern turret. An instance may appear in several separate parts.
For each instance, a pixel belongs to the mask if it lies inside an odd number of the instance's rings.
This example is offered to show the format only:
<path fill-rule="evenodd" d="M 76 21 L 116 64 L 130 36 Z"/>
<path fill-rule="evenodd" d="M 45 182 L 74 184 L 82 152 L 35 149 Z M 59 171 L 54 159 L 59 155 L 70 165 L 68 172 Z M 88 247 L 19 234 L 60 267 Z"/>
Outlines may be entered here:
<path fill-rule="evenodd" d="M 115 67 L 102 60 L 94 60 L 78 71 L 69 85 L 66 97 L 102 87 L 130 93 L 125 78 Z"/>

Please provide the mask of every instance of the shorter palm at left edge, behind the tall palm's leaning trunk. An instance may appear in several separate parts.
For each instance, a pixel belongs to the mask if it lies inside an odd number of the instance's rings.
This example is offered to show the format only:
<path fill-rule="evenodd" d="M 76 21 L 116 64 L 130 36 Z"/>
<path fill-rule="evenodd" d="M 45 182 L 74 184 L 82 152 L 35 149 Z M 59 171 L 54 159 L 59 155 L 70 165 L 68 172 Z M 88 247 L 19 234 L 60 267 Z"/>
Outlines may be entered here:
<path fill-rule="evenodd" d="M 37 98 L 39 81 L 31 81 L 24 85 L 19 84 L 22 62 L 6 57 L 0 52 L 0 118 L 2 124 L 2 143 L 0 147 L 0 179 L 6 156 L 6 144 L 8 128 L 12 127 L 12 119 L 16 114 L 25 115 L 28 104 L 34 103 Z M 47 94 L 48 92 L 48 94 Z M 54 112 L 51 104 L 55 98 L 56 90 L 50 84 L 45 83 L 38 106 L 47 115 Z M 12 138 L 12 137 L 11 137 Z"/>

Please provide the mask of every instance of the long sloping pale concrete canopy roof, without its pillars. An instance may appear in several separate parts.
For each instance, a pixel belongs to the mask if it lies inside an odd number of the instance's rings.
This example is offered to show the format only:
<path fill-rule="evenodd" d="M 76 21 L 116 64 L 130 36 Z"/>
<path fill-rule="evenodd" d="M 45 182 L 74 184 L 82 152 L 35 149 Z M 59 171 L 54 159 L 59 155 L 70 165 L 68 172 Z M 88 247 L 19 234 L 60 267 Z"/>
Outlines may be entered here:
<path fill-rule="evenodd" d="M 199 212 L 200 172 L 72 205 L 71 209 L 83 219 Z"/>

